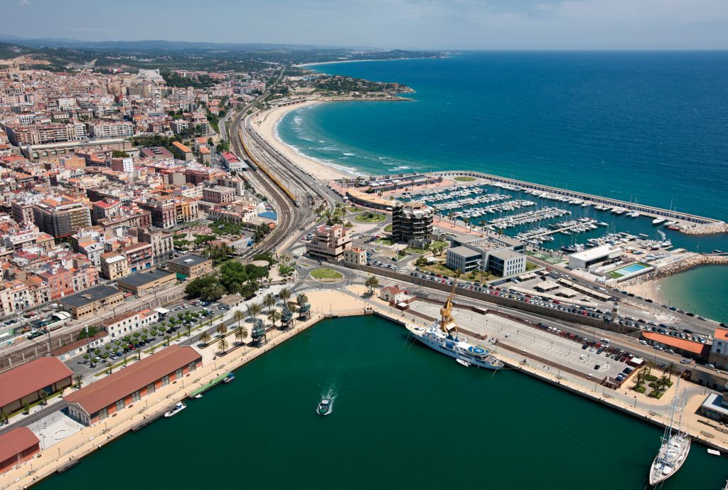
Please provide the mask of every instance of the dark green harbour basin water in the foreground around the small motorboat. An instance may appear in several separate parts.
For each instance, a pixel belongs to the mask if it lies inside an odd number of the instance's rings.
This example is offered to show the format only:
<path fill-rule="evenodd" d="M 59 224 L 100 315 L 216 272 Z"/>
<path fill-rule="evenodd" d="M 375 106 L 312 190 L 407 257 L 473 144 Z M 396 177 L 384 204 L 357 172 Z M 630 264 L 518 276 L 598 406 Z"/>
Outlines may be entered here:
<path fill-rule="evenodd" d="M 326 320 L 235 376 L 37 488 L 644 490 L 662 433 L 514 371 L 465 369 L 376 317 Z M 317 416 L 325 395 L 333 413 Z M 696 444 L 662 489 L 726 475 Z"/>

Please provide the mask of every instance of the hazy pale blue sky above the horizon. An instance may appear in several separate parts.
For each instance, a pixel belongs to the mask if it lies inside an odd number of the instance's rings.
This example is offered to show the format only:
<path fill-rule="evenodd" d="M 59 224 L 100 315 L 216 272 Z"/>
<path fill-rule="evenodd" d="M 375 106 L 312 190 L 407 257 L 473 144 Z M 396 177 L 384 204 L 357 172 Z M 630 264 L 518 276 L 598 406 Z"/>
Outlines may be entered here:
<path fill-rule="evenodd" d="M 429 50 L 728 49 L 728 0 L 0 0 L 0 33 Z"/>

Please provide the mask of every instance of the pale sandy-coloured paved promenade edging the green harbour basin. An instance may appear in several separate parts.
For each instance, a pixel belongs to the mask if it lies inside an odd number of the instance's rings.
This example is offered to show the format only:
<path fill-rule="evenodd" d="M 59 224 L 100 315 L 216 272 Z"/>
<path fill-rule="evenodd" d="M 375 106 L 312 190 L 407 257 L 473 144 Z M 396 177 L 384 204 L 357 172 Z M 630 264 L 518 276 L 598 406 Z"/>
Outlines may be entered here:
<path fill-rule="evenodd" d="M 250 360 L 264 355 L 277 345 L 293 338 L 296 334 L 305 331 L 325 318 L 378 315 L 399 325 L 418 324 L 427 326 L 426 320 L 423 320 L 422 317 L 389 307 L 389 304 L 376 297 L 365 298 L 365 291 L 363 285 L 342 287 L 341 284 L 336 283 L 317 289 L 296 291 L 296 293 L 305 293 L 309 298 L 312 305 L 309 320 L 297 322 L 288 331 L 274 330 L 269 332 L 269 341 L 261 348 L 237 348 L 229 351 L 223 357 L 217 356 L 216 343 L 199 349 L 203 354 L 202 368 L 188 374 L 179 382 L 173 382 L 173 384 L 159 388 L 154 394 L 142 398 L 103 422 L 99 422 L 92 427 L 84 427 L 74 435 L 42 451 L 30 461 L 0 475 L 0 490 L 28 487 L 58 470 L 64 470 L 75 465 L 82 457 L 102 448 L 120 435 L 154 421 L 176 402 L 183 400 L 191 392 L 212 382 L 218 376 L 223 376 L 226 372 L 240 368 Z M 472 339 L 472 341 L 483 344 L 483 341 L 477 339 Z M 635 396 L 624 389 L 619 391 L 609 390 L 587 379 L 557 371 L 553 367 L 542 365 L 536 360 L 509 352 L 507 349 L 499 348 L 496 345 L 485 345 L 506 363 L 506 369 L 521 371 L 523 374 L 537 377 L 555 386 L 590 398 L 596 403 L 616 408 L 625 414 L 637 416 L 653 424 L 662 425 L 668 422 L 669 404 L 676 391 L 674 387 L 668 390 L 660 400 L 652 400 L 644 395 Z M 701 443 L 728 452 L 728 433 L 721 432 L 716 427 L 710 427 L 700 422 L 703 417 L 695 414 L 697 406 L 705 397 L 705 388 L 689 382 L 681 382 L 681 387 L 687 388 L 689 398 L 683 418 L 684 428 Z M 194 401 L 190 403 L 194 403 Z M 716 425 L 715 422 L 711 422 L 711 424 Z"/>

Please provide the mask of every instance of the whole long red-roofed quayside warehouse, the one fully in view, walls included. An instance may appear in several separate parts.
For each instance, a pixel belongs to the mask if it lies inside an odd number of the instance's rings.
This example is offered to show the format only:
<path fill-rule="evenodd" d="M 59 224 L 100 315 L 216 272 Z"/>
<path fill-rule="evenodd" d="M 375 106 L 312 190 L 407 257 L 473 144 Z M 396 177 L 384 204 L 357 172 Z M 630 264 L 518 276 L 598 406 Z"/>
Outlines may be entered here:
<path fill-rule="evenodd" d="M 173 345 L 71 392 L 63 399 L 68 414 L 85 425 L 113 416 L 142 398 L 202 367 L 193 347 Z"/>

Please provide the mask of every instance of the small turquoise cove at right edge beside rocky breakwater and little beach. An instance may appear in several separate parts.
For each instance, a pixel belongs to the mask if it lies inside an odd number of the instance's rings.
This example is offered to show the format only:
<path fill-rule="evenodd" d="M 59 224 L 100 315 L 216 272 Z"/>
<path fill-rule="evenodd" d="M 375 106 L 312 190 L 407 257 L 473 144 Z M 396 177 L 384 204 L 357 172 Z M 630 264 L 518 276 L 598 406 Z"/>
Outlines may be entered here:
<path fill-rule="evenodd" d="M 726 266 L 701 266 L 660 280 L 660 299 L 673 307 L 728 323 Z"/>

